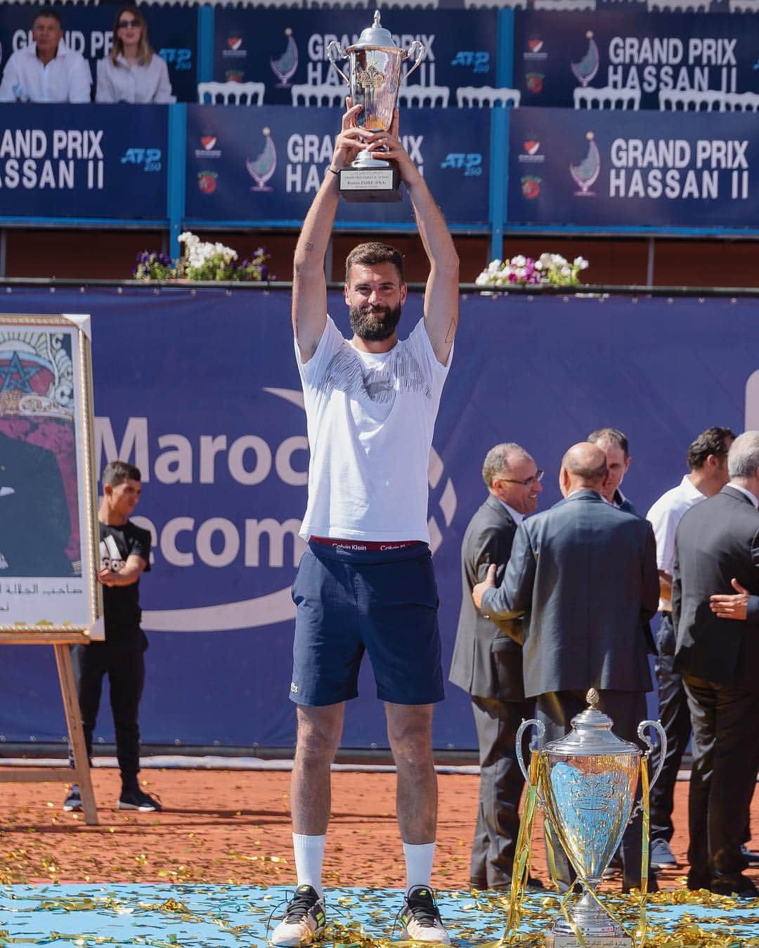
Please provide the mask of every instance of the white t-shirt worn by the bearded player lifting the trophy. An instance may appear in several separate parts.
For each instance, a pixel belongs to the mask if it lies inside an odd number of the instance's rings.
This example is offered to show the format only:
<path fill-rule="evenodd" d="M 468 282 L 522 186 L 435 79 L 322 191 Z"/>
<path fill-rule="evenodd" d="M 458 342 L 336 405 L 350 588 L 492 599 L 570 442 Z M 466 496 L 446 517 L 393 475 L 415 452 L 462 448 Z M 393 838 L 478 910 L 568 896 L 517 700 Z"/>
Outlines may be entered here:
<path fill-rule="evenodd" d="M 305 365 L 296 341 L 311 447 L 301 537 L 429 542 L 429 451 L 451 356 L 441 365 L 424 319 L 387 353 L 354 349 L 329 316 Z"/>

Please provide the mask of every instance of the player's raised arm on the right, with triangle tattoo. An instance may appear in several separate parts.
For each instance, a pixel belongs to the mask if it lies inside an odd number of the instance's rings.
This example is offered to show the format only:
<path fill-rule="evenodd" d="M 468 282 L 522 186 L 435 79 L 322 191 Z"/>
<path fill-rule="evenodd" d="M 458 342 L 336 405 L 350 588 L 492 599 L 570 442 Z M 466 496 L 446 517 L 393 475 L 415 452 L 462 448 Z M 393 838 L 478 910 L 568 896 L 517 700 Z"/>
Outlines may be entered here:
<path fill-rule="evenodd" d="M 380 133 L 380 137 L 382 137 Z M 443 214 L 425 179 L 398 138 L 398 110 L 385 136 L 388 157 L 398 163 L 416 215 L 419 236 L 429 261 L 425 290 L 425 328 L 438 361 L 445 365 L 459 325 L 459 256 Z M 384 155 L 383 155 L 384 157 Z"/>

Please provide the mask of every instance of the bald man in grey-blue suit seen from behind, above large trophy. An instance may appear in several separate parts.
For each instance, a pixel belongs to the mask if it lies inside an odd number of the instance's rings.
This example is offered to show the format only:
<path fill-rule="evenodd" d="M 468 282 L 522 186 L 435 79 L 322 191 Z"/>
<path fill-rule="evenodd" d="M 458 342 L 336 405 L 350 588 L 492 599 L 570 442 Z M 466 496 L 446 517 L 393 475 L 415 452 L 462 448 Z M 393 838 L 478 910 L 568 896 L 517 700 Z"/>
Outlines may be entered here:
<path fill-rule="evenodd" d="M 472 592 L 493 619 L 524 613 L 525 695 L 536 700 L 546 741 L 568 733 L 590 686 L 620 738 L 638 743 L 646 716 L 648 621 L 659 603 L 654 534 L 604 501 L 606 475 L 601 448 L 570 447 L 559 472 L 564 500 L 520 524 L 500 587 L 491 567 Z M 559 882 L 569 885 L 569 862 L 560 849 L 556 857 Z M 623 838 L 623 888 L 640 883 L 639 818 Z"/>

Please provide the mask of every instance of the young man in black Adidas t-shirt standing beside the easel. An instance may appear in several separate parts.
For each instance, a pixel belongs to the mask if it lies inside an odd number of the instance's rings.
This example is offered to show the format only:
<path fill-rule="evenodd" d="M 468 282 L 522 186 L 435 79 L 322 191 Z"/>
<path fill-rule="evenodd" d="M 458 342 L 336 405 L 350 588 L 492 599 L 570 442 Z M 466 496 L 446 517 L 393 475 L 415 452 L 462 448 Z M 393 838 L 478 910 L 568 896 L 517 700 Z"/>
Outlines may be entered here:
<path fill-rule="evenodd" d="M 129 520 L 139 501 L 139 469 L 123 461 L 107 465 L 102 475 L 99 506 L 100 569 L 103 587 L 105 641 L 72 648 L 81 725 L 87 754 L 92 757 L 92 734 L 98 718 L 103 675 L 108 675 L 116 730 L 116 754 L 121 772 L 118 810 L 152 812 L 160 803 L 139 788 L 139 723 L 137 712 L 145 684 L 148 640 L 140 628 L 139 577 L 150 567 L 151 536 Z M 81 810 L 74 784 L 63 810 Z"/>

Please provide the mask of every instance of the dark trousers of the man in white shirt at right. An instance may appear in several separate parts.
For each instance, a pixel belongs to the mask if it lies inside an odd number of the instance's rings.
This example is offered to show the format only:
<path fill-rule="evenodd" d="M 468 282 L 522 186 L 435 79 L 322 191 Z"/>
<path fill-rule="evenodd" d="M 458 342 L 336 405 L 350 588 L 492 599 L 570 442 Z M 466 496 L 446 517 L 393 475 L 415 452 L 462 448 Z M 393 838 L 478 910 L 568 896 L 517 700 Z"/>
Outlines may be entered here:
<path fill-rule="evenodd" d="M 682 684 L 682 676 L 673 668 L 675 661 L 675 629 L 672 613 L 661 613 L 658 635 L 659 655 L 654 671 L 659 687 L 659 720 L 667 736 L 667 753 L 659 779 L 651 788 L 651 839 L 669 842 L 675 828 L 672 811 L 675 807 L 675 784 L 680 762 L 691 738 L 691 712 Z M 651 755 L 652 773 L 659 765 L 661 749 L 657 745 Z"/>

